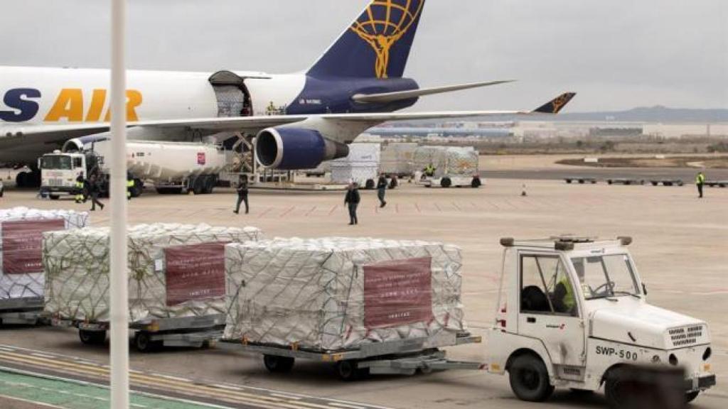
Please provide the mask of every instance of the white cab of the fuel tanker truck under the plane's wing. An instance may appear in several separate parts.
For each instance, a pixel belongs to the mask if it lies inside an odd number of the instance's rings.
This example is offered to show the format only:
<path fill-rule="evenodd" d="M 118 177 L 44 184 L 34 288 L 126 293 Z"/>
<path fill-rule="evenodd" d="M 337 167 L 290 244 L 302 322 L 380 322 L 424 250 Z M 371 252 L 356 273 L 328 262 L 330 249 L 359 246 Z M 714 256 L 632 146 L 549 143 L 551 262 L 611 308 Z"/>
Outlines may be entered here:
<path fill-rule="evenodd" d="M 58 194 L 75 194 L 79 174 L 87 178 L 87 156 L 83 153 L 63 153 L 59 150 L 38 159 L 41 170 L 41 192 L 51 199 Z"/>

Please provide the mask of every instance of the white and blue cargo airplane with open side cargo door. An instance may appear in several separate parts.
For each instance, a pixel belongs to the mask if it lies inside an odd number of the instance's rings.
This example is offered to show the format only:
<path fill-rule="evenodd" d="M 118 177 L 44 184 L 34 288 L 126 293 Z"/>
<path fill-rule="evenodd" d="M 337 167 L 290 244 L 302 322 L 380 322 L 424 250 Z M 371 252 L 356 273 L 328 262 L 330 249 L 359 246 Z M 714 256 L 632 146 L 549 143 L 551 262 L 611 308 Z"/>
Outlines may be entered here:
<path fill-rule="evenodd" d="M 534 111 L 397 113 L 420 97 L 507 81 L 420 88 L 403 76 L 425 0 L 373 0 L 306 71 L 127 71 L 129 138 L 223 142 L 256 136 L 259 162 L 317 167 L 382 122 L 558 114 L 569 92 Z M 108 138 L 110 74 L 0 67 L 0 162 L 28 164 L 68 140 Z M 87 142 L 85 142 L 87 143 Z"/>

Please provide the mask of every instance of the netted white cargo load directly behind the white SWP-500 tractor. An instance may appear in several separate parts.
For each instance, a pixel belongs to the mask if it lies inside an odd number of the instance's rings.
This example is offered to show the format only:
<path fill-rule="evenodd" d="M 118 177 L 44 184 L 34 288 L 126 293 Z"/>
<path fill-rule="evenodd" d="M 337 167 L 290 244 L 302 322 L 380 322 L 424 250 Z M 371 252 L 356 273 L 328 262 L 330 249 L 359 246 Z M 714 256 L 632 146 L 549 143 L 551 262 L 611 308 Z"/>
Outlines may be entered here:
<path fill-rule="evenodd" d="M 336 351 L 466 330 L 458 247 L 274 239 L 226 247 L 227 341 Z"/>

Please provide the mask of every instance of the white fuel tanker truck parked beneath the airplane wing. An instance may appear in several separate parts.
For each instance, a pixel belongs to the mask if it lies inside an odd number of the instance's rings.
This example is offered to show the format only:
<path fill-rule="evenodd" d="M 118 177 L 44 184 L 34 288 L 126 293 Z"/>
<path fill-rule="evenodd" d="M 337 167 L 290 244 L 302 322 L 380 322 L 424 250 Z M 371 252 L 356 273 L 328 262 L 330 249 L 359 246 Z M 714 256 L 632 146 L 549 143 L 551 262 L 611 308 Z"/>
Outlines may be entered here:
<path fill-rule="evenodd" d="M 92 172 L 102 178 L 101 194 L 108 195 L 111 140 L 78 138 L 68 140 L 61 150 L 39 158 L 41 194 L 58 199 L 76 194 L 76 178 Z M 151 182 L 159 194 L 210 194 L 225 166 L 221 146 L 205 143 L 133 140 L 127 143 L 127 167 L 134 186 L 132 197 L 141 195 Z"/>

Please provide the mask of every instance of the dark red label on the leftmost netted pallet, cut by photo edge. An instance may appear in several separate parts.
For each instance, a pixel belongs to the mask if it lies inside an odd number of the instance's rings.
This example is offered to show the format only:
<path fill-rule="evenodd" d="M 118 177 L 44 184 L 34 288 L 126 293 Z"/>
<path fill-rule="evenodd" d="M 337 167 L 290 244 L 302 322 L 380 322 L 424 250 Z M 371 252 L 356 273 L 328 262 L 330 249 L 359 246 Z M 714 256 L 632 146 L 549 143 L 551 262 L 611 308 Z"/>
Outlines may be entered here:
<path fill-rule="evenodd" d="M 43 271 L 43 233 L 66 229 L 63 219 L 2 222 L 2 269 L 4 274 Z"/>

